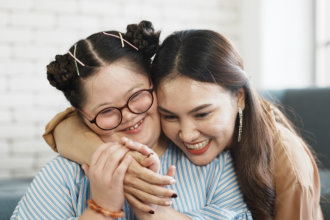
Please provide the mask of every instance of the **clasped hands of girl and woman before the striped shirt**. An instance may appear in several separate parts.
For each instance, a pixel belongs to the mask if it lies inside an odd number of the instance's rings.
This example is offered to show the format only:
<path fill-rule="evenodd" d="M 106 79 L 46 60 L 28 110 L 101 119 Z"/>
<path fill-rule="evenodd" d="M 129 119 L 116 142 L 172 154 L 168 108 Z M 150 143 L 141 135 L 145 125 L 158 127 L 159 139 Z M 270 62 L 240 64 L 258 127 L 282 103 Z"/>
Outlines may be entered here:
<path fill-rule="evenodd" d="M 154 213 L 157 205 L 170 206 L 177 194 L 164 186 L 175 182 L 175 167 L 160 175 L 160 160 L 146 145 L 122 138 L 102 144 L 90 166 L 83 164 L 90 179 L 92 198 L 103 208 L 118 211 L 127 199 L 133 210 Z"/>

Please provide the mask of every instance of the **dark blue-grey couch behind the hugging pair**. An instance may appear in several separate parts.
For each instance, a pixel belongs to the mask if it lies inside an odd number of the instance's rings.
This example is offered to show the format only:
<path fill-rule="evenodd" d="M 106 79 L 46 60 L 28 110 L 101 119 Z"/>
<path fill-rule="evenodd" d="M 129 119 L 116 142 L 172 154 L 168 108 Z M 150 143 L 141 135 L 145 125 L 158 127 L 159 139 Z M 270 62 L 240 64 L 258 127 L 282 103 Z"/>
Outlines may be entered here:
<path fill-rule="evenodd" d="M 319 159 L 321 206 L 324 219 L 330 219 L 330 88 L 302 88 L 263 91 L 282 104 L 287 116 L 299 128 Z M 9 219 L 31 179 L 0 180 L 0 220 Z"/>

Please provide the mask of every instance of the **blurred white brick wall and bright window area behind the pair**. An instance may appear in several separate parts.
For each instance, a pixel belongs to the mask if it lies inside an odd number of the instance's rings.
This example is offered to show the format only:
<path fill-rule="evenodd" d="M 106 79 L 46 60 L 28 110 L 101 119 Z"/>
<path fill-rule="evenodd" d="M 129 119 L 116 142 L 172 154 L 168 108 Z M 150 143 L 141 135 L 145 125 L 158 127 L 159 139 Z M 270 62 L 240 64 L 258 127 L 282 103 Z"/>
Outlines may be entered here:
<path fill-rule="evenodd" d="M 56 156 L 41 135 L 69 104 L 49 85 L 46 65 L 77 40 L 125 31 L 142 19 L 152 21 L 162 39 L 175 30 L 207 28 L 233 42 L 257 88 L 326 86 L 330 34 L 318 31 L 327 24 L 316 25 L 315 2 L 0 0 L 0 177 L 33 176 Z"/>

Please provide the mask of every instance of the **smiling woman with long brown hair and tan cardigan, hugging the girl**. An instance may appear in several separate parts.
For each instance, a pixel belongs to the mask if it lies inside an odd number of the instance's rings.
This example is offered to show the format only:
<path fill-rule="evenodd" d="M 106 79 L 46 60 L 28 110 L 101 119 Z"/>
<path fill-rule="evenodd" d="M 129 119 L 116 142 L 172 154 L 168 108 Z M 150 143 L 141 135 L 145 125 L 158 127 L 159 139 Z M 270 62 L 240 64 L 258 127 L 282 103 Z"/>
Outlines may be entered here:
<path fill-rule="evenodd" d="M 255 219 L 322 219 L 312 153 L 284 115 L 251 88 L 226 38 L 208 30 L 174 33 L 157 52 L 151 76 L 164 134 L 197 165 L 230 150 Z M 69 132 L 61 124 L 56 133 Z"/>

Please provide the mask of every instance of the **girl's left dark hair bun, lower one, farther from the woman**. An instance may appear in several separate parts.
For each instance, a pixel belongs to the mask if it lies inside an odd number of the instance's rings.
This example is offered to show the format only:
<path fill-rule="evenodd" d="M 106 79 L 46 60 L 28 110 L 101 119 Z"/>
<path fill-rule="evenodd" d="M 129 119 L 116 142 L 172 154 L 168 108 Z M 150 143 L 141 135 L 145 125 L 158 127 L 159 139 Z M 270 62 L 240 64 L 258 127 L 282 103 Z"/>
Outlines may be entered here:
<path fill-rule="evenodd" d="M 78 77 L 74 60 L 69 54 L 56 55 L 47 65 L 47 79 L 57 89 L 65 92 L 72 89 L 72 83 Z"/>

